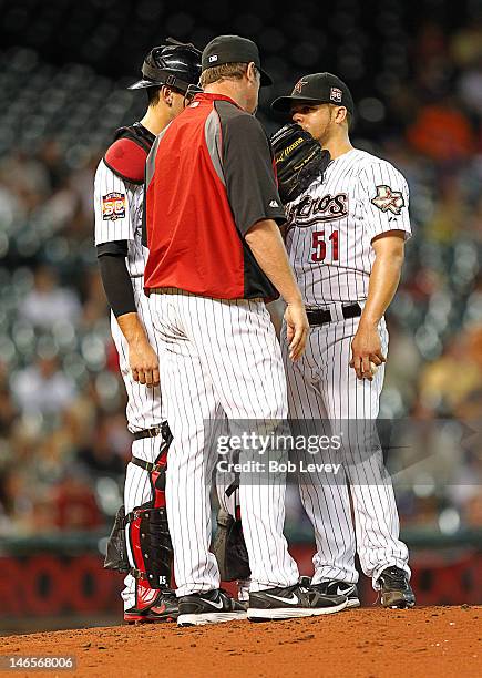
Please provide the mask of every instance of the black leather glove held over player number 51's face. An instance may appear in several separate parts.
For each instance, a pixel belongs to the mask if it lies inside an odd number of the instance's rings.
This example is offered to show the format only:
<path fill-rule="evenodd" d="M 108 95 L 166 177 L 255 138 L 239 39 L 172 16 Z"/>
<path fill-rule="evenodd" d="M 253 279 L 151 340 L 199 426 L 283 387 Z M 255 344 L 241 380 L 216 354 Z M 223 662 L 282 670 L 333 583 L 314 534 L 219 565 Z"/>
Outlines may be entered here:
<path fill-rule="evenodd" d="M 319 176 L 331 160 L 311 134 L 298 124 L 285 125 L 271 136 L 278 174 L 279 197 L 284 205 L 295 201 Z"/>

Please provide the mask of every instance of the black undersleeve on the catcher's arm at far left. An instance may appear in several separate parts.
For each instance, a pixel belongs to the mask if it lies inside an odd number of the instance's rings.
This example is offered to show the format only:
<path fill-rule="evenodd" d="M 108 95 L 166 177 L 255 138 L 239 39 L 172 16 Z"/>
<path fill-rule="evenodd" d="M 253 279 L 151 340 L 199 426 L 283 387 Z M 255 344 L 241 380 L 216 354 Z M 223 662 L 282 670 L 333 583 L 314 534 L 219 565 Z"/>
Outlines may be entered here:
<path fill-rule="evenodd" d="M 135 314 L 134 291 L 125 265 L 127 242 L 104 243 L 96 249 L 102 285 L 114 316 Z"/>

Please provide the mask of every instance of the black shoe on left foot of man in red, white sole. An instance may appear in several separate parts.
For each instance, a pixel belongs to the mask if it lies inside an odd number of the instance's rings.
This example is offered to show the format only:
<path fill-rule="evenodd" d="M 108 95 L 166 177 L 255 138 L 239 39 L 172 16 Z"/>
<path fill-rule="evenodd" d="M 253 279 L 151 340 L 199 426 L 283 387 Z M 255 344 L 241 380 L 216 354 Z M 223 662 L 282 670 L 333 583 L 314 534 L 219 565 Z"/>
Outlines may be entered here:
<path fill-rule="evenodd" d="M 217 588 L 182 596 L 178 603 L 177 626 L 199 626 L 246 619 L 246 609 L 243 605 Z"/>

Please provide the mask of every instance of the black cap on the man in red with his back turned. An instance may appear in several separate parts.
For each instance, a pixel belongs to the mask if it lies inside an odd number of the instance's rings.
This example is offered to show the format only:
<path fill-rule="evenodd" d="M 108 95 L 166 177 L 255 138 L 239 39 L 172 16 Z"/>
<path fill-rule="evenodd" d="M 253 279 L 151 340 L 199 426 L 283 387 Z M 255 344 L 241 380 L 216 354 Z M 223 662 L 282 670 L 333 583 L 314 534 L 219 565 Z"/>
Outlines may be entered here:
<path fill-rule="evenodd" d="M 273 84 L 273 80 L 261 69 L 259 50 L 253 40 L 240 35 L 218 35 L 203 50 L 202 69 L 212 69 L 223 63 L 253 63 L 261 74 L 261 86 Z"/>

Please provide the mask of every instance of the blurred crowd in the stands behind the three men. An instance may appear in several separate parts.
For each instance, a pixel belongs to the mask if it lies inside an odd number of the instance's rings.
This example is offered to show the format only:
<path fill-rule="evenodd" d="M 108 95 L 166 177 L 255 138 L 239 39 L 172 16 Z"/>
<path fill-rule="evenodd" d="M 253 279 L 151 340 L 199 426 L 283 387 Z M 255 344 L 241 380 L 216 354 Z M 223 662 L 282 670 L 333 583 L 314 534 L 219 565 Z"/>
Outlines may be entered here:
<path fill-rule="evenodd" d="M 397 71 L 393 56 L 397 76 L 361 100 L 352 134 L 411 192 L 414 235 L 389 312 L 380 415 L 473 421 L 482 408 L 482 20 L 452 32 L 424 23 L 399 48 L 410 69 Z M 112 131 L 144 101 L 30 49 L 0 59 L 11 94 L 0 104 L 0 122 L 11 123 L 0 132 L 0 536 L 100 528 L 121 503 L 130 435 L 92 244 L 92 178 Z M 304 70 L 322 63 L 291 68 L 291 84 Z M 19 73 L 33 76 L 14 90 Z M 69 92 L 76 105 L 59 117 Z M 260 119 L 279 126 L 266 106 Z M 12 136 L 16 124 L 23 133 Z M 438 429 L 421 445 L 442 461 L 412 460 L 398 489 L 402 525 L 481 527 L 478 436 L 454 449 Z M 289 496 L 296 527 L 304 517 Z"/>

